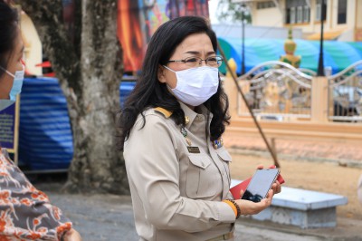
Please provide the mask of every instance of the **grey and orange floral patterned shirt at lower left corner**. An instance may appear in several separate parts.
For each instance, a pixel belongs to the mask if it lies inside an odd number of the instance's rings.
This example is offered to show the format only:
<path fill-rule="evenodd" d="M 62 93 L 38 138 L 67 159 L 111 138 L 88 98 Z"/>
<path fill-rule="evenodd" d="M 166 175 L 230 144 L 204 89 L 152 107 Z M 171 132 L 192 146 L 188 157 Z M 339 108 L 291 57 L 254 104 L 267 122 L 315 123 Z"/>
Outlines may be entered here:
<path fill-rule="evenodd" d="M 0 150 L 0 240 L 61 240 L 71 221 Z"/>

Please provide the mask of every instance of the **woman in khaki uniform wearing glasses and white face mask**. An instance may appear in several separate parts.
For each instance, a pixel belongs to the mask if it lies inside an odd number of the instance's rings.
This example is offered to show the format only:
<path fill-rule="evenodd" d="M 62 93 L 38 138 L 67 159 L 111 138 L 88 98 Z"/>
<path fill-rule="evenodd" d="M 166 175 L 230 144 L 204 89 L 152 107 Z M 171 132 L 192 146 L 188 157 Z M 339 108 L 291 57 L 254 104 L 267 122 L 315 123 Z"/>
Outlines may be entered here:
<path fill-rule="evenodd" d="M 216 37 L 205 19 L 176 18 L 148 44 L 119 119 L 139 240 L 234 240 L 240 215 L 269 207 L 233 200 L 222 134 L 228 101 Z M 281 186 L 274 184 L 274 191 Z"/>

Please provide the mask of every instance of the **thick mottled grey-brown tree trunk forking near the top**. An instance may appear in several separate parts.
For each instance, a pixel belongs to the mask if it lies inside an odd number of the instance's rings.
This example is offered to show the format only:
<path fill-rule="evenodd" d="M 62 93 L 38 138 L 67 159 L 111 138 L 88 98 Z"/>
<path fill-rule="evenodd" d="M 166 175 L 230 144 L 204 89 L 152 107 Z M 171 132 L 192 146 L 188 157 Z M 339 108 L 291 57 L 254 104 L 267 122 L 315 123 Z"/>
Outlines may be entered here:
<path fill-rule="evenodd" d="M 20 1 L 68 103 L 74 154 L 65 191 L 129 193 L 124 159 L 114 138 L 122 76 L 117 2 L 74 0 L 72 42 L 63 24 L 62 0 Z"/>

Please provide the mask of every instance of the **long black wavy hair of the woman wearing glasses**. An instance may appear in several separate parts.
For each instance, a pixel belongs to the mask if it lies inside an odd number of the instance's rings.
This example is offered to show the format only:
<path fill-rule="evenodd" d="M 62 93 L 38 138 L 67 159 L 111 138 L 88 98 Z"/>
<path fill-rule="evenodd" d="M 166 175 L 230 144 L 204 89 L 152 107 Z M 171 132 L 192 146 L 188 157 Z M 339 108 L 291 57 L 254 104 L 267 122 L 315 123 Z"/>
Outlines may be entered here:
<path fill-rule="evenodd" d="M 214 52 L 217 50 L 217 39 L 214 31 L 210 29 L 205 18 L 198 16 L 183 16 L 162 24 L 153 34 L 148 43 L 148 50 L 142 66 L 138 82 L 125 102 L 123 110 L 119 111 L 117 128 L 119 130 L 118 148 L 123 150 L 124 141 L 129 137 L 138 114 L 148 108 L 162 107 L 172 111 L 170 118 L 177 125 L 185 125 L 185 113 L 180 103 L 167 90 L 166 83 L 158 81 L 157 71 L 159 65 L 166 65 L 176 47 L 190 34 L 205 33 L 210 37 Z M 217 92 L 204 103 L 207 110 L 213 113 L 210 124 L 210 138 L 217 140 L 224 133 L 225 124 L 229 124 L 229 103 L 224 93 L 221 80 Z M 143 116 L 143 114 L 142 114 Z M 143 116 L 144 121 L 145 117 Z M 145 123 L 145 122 L 144 122 Z M 208 127 L 206 127 L 208 130 Z"/>

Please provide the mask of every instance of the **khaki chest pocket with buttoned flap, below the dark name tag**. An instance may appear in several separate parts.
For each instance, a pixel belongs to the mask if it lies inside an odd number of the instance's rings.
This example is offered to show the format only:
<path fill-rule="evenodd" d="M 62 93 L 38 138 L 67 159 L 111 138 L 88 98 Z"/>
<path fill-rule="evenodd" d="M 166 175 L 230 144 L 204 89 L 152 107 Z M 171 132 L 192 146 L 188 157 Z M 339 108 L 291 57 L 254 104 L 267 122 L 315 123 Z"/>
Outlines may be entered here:
<path fill-rule="evenodd" d="M 220 191 L 220 174 L 206 154 L 189 154 L 186 194 L 189 198 L 210 198 Z"/>

